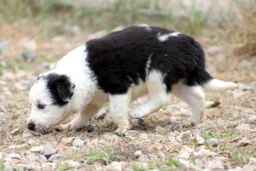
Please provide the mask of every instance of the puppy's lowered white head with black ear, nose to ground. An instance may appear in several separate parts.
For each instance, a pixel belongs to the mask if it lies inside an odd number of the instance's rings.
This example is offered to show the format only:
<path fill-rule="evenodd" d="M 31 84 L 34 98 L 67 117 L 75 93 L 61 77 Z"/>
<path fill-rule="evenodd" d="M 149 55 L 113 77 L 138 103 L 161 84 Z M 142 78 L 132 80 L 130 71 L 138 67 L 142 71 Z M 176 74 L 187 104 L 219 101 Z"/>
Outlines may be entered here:
<path fill-rule="evenodd" d="M 40 75 L 29 93 L 32 106 L 27 128 L 47 133 L 71 112 L 68 104 L 75 85 L 67 75 L 55 72 Z"/>

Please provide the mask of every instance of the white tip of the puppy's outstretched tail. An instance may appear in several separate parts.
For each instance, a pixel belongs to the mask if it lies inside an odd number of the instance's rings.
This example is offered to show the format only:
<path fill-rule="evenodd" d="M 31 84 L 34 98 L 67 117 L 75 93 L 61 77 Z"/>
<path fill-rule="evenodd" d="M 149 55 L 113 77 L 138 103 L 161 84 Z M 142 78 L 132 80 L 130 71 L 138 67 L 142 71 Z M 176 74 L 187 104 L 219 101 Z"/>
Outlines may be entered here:
<path fill-rule="evenodd" d="M 238 86 L 238 84 L 235 84 L 233 82 L 225 82 L 225 81 L 220 81 L 217 79 L 212 79 L 202 85 L 202 87 L 204 87 L 207 90 L 211 90 L 211 91 L 230 90 L 237 86 Z"/>

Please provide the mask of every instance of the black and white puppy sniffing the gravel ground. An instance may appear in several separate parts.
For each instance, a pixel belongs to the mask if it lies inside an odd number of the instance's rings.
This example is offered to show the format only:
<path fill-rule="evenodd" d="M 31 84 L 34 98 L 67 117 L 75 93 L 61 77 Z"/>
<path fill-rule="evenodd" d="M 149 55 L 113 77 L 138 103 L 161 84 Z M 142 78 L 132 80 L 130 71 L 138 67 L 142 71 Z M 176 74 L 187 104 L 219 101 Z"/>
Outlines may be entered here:
<path fill-rule="evenodd" d="M 205 54 L 191 36 L 146 24 L 131 26 L 70 51 L 56 68 L 41 74 L 29 93 L 30 130 L 46 133 L 73 111 L 65 125 L 79 129 L 109 102 L 110 115 L 122 136 L 131 126 L 128 105 L 148 93 L 132 118 L 145 117 L 170 101 L 171 93 L 192 108 L 196 125 L 204 114 L 204 92 L 233 89 L 237 84 L 214 79 L 205 70 Z"/>

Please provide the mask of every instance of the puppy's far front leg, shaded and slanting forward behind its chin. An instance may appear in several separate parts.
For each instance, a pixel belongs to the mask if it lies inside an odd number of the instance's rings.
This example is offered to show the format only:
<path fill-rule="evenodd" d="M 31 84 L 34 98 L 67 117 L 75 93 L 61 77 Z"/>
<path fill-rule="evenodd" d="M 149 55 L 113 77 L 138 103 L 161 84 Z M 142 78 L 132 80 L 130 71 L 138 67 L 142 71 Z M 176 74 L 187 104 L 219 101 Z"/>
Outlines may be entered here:
<path fill-rule="evenodd" d="M 101 105 L 88 104 L 79 115 L 70 123 L 64 125 L 64 129 L 79 129 L 87 125 L 91 117 L 101 109 Z"/>

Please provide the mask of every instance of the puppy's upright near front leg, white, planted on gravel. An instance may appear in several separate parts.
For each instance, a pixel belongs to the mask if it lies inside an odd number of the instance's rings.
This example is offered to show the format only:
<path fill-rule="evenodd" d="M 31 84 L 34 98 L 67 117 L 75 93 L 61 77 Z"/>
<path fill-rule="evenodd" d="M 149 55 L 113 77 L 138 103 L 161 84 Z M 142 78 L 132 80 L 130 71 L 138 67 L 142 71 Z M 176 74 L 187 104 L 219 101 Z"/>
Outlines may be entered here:
<path fill-rule="evenodd" d="M 118 126 L 115 133 L 124 136 L 131 126 L 128 121 L 128 106 L 131 101 L 131 92 L 118 95 L 109 95 L 110 99 L 110 116 Z"/>

